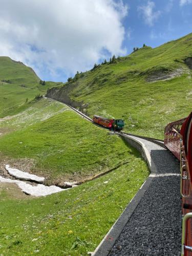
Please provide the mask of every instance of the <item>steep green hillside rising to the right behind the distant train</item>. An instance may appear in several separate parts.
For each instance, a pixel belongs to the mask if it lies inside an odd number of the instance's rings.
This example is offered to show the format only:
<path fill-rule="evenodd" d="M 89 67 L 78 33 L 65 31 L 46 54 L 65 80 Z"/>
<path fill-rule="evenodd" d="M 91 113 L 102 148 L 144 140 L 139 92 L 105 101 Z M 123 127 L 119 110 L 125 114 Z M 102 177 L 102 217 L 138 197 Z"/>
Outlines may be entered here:
<path fill-rule="evenodd" d="M 47 96 L 91 117 L 123 118 L 125 131 L 159 138 L 166 123 L 191 111 L 192 34 L 114 62 L 77 74 Z"/>

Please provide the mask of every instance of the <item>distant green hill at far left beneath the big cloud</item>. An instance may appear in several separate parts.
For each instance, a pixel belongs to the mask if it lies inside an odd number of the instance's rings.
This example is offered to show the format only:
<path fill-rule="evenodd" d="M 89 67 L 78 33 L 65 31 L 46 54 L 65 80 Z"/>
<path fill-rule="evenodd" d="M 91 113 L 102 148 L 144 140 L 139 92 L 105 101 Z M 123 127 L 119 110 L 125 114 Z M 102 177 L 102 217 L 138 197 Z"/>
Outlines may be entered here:
<path fill-rule="evenodd" d="M 19 113 L 27 108 L 26 99 L 32 100 L 38 94 L 61 83 L 39 84 L 34 71 L 9 57 L 0 57 L 0 118 Z"/>

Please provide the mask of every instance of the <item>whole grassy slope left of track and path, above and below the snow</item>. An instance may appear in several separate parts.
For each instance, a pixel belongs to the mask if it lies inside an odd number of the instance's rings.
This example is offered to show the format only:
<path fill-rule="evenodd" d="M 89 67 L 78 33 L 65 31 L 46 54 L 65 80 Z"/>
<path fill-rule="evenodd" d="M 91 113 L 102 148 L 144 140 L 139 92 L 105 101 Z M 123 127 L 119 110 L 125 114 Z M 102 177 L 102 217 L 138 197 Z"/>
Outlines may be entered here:
<path fill-rule="evenodd" d="M 28 109 L 0 122 L 0 132 L 4 133 L 1 154 L 15 157 L 15 161 L 36 158 L 35 170 L 44 169 L 51 181 L 55 177 L 61 180 L 70 175 L 90 175 L 122 161 L 128 163 L 48 197 L 25 198 L 15 186 L 1 187 L 0 215 L 4 221 L 0 254 L 87 255 L 133 198 L 148 168 L 136 150 L 63 104 L 41 99 L 27 105 Z"/>

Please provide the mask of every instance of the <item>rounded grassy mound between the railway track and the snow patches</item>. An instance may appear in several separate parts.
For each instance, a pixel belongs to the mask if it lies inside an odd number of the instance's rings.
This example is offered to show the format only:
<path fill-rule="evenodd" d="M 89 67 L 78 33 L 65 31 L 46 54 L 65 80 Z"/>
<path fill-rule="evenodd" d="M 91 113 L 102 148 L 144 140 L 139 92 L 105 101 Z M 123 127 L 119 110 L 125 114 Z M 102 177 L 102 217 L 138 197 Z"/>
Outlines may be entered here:
<path fill-rule="evenodd" d="M 56 109 L 60 113 L 56 114 Z M 1 135 L 1 153 L 15 161 L 34 159 L 32 171 L 47 177 L 49 184 L 89 177 L 129 158 L 121 138 L 90 124 L 63 104 L 46 99 L 35 102 L 16 117 L 5 119 L 1 126 L 3 131 L 9 130 Z M 12 126 L 17 131 L 10 132 Z"/>

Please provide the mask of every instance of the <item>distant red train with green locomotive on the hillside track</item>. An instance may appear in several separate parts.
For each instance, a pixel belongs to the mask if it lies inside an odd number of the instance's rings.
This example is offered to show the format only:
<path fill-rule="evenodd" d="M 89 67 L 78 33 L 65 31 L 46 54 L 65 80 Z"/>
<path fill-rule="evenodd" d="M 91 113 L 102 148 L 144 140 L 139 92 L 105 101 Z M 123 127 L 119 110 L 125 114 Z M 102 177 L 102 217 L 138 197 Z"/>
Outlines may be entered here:
<path fill-rule="evenodd" d="M 114 131 L 121 131 L 124 128 L 124 120 L 122 119 L 108 119 L 94 115 L 93 122 Z"/>

